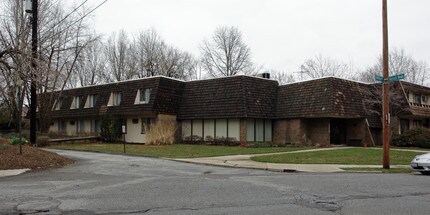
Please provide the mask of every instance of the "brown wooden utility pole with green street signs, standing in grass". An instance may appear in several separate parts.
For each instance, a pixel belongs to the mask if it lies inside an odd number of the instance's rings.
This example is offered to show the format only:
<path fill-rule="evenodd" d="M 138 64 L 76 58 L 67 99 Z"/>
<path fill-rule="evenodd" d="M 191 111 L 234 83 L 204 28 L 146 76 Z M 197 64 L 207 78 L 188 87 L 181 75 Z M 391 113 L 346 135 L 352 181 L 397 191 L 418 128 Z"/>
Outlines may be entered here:
<path fill-rule="evenodd" d="M 387 0 L 382 0 L 382 60 L 383 60 L 383 88 L 382 88 L 382 133 L 383 133 L 383 168 L 390 168 L 390 104 L 388 81 L 388 20 Z"/>

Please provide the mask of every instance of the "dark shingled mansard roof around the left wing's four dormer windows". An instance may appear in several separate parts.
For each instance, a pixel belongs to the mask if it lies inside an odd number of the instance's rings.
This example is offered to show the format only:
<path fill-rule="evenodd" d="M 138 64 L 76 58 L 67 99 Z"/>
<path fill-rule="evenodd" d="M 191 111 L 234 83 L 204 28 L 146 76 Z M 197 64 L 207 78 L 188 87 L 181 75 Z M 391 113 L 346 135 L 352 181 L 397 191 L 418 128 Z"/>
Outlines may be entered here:
<path fill-rule="evenodd" d="M 183 81 L 156 76 L 63 90 L 60 96 L 61 109 L 51 111 L 50 114 L 53 118 L 92 117 L 104 113 L 113 115 L 175 114 L 179 107 L 182 85 Z M 137 91 L 143 88 L 152 90 L 149 103 L 134 104 Z M 112 92 L 121 92 L 119 106 L 107 106 Z M 96 95 L 96 104 L 93 108 L 84 108 L 89 95 Z M 75 96 L 82 96 L 81 106 L 78 109 L 70 109 Z"/>

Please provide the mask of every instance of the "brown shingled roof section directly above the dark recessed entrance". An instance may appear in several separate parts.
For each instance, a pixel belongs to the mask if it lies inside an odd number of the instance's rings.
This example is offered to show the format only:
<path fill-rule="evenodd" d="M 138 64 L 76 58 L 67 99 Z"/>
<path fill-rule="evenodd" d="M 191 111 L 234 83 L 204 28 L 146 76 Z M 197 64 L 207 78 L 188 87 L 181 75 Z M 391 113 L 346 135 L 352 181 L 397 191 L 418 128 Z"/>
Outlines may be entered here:
<path fill-rule="evenodd" d="M 326 77 L 279 87 L 278 118 L 365 117 L 360 83 Z"/>

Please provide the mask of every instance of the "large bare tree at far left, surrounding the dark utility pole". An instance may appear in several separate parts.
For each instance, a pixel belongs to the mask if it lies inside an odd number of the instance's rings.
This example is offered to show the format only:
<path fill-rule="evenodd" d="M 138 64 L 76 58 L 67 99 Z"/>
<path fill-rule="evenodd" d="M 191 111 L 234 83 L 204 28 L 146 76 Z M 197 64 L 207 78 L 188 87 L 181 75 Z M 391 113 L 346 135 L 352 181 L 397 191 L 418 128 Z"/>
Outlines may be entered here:
<path fill-rule="evenodd" d="M 56 100 L 54 94 L 48 96 L 46 92 L 61 91 L 67 86 L 75 71 L 79 56 L 84 48 L 93 41 L 87 34 L 88 19 L 85 17 L 88 17 L 89 10 L 85 7 L 76 7 L 76 10 L 67 11 L 61 2 L 40 1 L 39 57 L 36 59 L 37 70 L 33 70 L 29 65 L 32 57 L 29 41 L 30 26 L 23 10 L 23 1 L 6 0 L 2 3 L 1 13 L 8 14 L 8 17 L 12 18 L 1 20 L 0 44 L 3 44 L 5 50 L 13 50 L 13 53 L 4 59 L 5 62 L 8 62 L 9 67 L 6 70 L 2 69 L 2 78 L 9 80 L 11 77 L 18 76 L 19 78 L 16 80 L 24 83 L 23 89 L 26 92 L 26 98 L 22 96 L 21 101 L 29 101 L 26 89 L 30 78 L 36 77 L 37 91 L 40 95 L 40 99 L 38 99 L 39 128 L 46 132 L 51 120 L 47 112 L 51 110 L 52 104 Z M 13 89 L 13 87 L 9 89 Z M 13 100 L 10 98 L 15 93 L 4 93 L 5 90 L 2 92 L 2 96 L 6 100 Z"/>

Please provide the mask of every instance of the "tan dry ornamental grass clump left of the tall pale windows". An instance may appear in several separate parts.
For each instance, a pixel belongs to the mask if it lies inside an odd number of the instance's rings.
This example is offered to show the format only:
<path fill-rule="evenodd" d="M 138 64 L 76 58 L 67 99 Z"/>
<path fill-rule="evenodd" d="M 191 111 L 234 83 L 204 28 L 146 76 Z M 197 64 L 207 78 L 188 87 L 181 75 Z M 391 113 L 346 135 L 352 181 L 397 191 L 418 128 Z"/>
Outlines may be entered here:
<path fill-rule="evenodd" d="M 147 145 L 172 145 L 175 141 L 176 119 L 169 116 L 158 116 L 157 122 L 145 125 Z"/>

